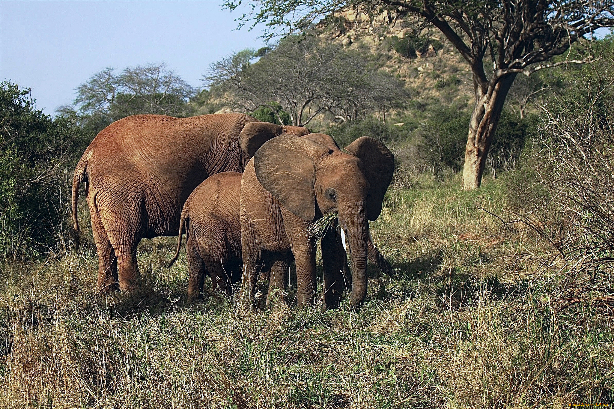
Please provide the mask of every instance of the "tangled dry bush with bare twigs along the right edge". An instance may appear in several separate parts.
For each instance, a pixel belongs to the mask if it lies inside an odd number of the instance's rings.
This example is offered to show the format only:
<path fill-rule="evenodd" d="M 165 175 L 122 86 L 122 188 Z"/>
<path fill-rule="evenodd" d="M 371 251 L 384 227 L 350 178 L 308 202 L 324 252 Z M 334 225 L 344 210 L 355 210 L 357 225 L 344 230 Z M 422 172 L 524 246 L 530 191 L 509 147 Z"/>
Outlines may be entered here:
<path fill-rule="evenodd" d="M 597 68 L 597 67 L 595 67 Z M 614 60 L 543 106 L 529 165 L 511 185 L 513 214 L 556 249 L 544 260 L 562 276 L 558 308 L 614 306 Z"/>

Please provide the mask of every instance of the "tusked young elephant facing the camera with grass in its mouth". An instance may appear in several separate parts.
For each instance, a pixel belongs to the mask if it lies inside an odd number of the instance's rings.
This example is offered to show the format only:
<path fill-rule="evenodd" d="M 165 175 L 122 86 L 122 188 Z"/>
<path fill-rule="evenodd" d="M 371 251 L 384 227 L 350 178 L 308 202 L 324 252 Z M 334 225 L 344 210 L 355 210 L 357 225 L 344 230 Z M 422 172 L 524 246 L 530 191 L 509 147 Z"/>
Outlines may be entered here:
<path fill-rule="evenodd" d="M 253 299 L 263 266 L 293 257 L 298 305 L 313 303 L 315 241 L 305 231 L 324 214 L 336 210 L 343 247 L 351 254 L 349 303 L 356 307 L 367 293 L 368 220 L 375 220 L 381 212 L 394 171 L 394 156 L 381 142 L 366 136 L 346 147 L 350 153 L 309 139 L 289 135 L 270 139 L 246 166 L 240 206 L 244 289 Z M 324 286 L 327 292 L 336 292 L 333 303 L 342 292 L 345 257 L 343 249 L 338 248 L 341 244 L 334 239 L 333 234 L 322 240 Z"/>

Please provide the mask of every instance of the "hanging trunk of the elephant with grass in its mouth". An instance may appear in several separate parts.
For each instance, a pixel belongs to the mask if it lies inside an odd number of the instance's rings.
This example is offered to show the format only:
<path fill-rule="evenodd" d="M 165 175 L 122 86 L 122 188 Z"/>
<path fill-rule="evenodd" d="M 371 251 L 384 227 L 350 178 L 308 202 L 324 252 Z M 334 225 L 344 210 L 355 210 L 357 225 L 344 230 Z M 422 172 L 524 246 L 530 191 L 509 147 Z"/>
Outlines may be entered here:
<path fill-rule="evenodd" d="M 368 221 L 363 201 L 358 201 L 347 209 L 338 209 L 340 226 L 344 232 L 344 245 L 350 254 L 352 269 L 352 294 L 349 297 L 351 308 L 360 306 L 367 295 L 367 255 Z"/>

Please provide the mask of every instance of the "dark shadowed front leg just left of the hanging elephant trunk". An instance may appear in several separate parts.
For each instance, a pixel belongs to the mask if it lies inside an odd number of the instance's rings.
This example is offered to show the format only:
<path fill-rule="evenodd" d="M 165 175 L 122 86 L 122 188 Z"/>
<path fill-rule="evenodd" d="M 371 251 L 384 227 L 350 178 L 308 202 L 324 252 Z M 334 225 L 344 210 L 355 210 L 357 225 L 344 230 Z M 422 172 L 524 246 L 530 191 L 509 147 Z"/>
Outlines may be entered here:
<path fill-rule="evenodd" d="M 324 271 L 324 304 L 327 309 L 341 305 L 343 290 L 347 288 L 343 271 L 347 268 L 346 252 L 334 228 L 322 237 L 322 270 Z"/>

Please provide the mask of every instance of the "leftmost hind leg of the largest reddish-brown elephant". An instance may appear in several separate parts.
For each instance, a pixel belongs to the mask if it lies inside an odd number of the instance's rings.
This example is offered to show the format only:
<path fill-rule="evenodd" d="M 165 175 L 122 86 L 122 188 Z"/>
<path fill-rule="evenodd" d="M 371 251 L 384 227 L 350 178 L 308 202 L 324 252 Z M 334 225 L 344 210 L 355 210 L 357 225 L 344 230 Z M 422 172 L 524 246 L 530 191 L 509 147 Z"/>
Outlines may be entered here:
<path fill-rule="evenodd" d="M 111 241 L 95 206 L 90 207 L 91 231 L 98 252 L 98 290 L 113 292 L 119 288 L 117 282 L 117 257 Z"/>

